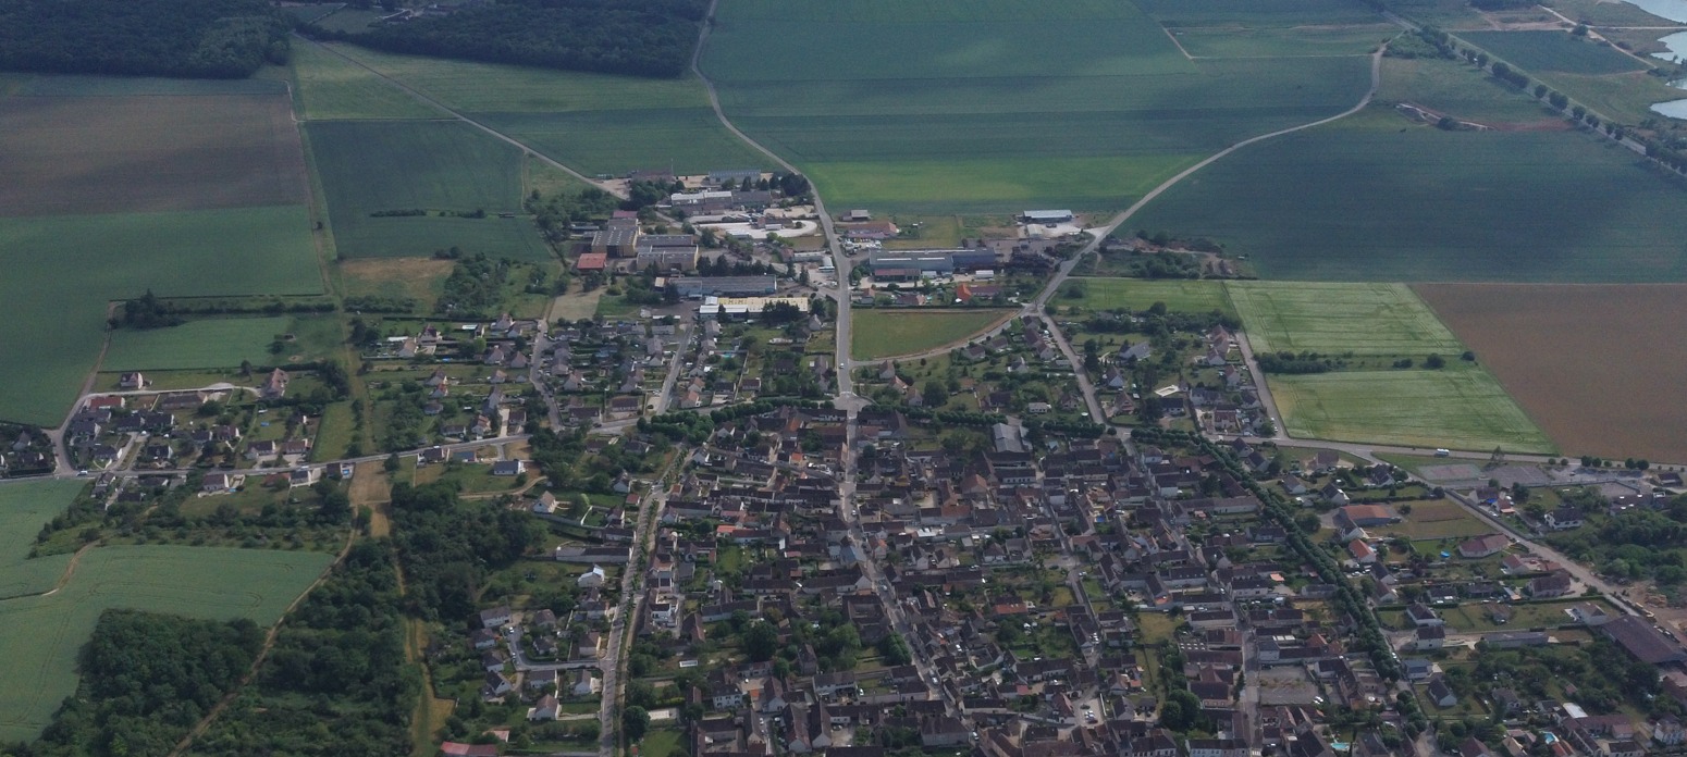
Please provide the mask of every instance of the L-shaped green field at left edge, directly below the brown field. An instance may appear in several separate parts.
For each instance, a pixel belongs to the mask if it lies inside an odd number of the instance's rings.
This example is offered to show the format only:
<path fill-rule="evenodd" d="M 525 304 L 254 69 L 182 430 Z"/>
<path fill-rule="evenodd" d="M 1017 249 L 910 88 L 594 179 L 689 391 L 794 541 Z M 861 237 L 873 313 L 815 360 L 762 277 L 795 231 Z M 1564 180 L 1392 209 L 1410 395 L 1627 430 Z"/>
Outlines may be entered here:
<path fill-rule="evenodd" d="M 321 293 L 302 206 L 0 217 L 0 418 L 56 427 L 108 300 Z"/>

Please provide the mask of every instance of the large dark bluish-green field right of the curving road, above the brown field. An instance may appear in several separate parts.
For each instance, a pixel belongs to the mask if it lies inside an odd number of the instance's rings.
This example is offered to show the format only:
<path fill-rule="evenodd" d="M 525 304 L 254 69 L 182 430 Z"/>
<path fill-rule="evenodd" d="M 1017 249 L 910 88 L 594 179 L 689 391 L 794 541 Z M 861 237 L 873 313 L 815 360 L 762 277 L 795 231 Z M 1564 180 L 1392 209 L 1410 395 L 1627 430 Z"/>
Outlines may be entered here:
<path fill-rule="evenodd" d="M 1269 278 L 1677 282 L 1682 197 L 1608 140 L 1444 132 L 1378 105 L 1240 150 L 1130 226 L 1218 241 Z"/>

